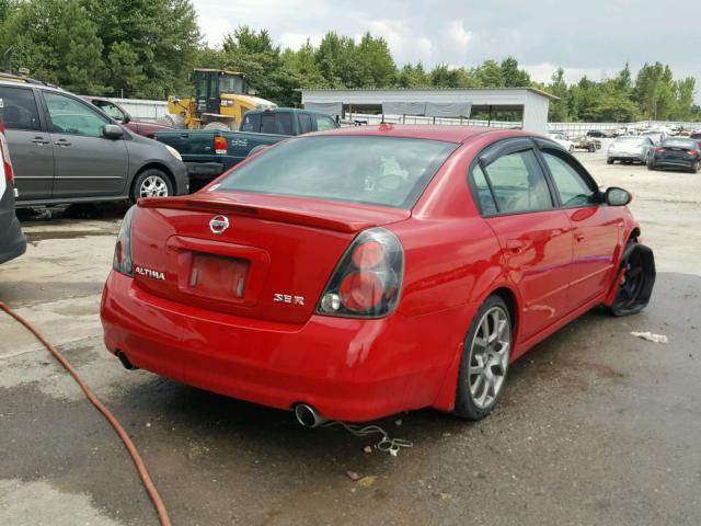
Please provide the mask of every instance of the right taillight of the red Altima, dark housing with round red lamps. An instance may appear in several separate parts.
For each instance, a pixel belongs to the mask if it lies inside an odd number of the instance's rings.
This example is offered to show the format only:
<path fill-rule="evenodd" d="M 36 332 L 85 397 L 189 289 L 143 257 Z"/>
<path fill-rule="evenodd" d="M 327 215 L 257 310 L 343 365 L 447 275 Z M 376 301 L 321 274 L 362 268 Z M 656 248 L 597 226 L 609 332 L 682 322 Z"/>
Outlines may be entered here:
<path fill-rule="evenodd" d="M 341 259 L 317 313 L 381 318 L 394 310 L 404 273 L 404 249 L 383 228 L 360 232 Z"/>

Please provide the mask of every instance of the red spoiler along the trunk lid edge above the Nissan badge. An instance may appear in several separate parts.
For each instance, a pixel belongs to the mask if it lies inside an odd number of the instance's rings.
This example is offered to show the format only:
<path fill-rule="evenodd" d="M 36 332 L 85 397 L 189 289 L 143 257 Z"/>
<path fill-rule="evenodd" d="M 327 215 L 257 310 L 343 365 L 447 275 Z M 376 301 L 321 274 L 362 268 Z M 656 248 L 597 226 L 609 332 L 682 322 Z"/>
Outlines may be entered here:
<path fill-rule="evenodd" d="M 367 228 L 377 227 L 377 222 L 369 220 L 343 220 L 315 214 L 313 210 L 300 211 L 284 207 L 267 207 L 260 205 L 240 205 L 230 201 L 199 201 L 182 197 L 146 197 L 138 202 L 141 208 L 166 208 L 173 210 L 204 211 L 209 214 L 227 214 L 234 216 L 257 217 L 260 219 L 290 222 L 307 227 L 323 228 L 337 232 L 353 233 Z"/>

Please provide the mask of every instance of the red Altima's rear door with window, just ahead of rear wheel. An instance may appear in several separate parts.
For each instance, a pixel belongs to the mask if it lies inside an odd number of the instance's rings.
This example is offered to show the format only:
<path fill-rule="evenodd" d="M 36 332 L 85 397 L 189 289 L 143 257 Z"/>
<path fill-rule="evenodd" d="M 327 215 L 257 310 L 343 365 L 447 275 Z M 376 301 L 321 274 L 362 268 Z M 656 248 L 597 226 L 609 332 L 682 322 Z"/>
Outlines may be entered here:
<path fill-rule="evenodd" d="M 507 139 L 483 152 L 471 170 L 484 219 L 499 240 L 522 305 L 521 338 L 567 312 L 572 228 L 555 207 L 532 141 Z"/>

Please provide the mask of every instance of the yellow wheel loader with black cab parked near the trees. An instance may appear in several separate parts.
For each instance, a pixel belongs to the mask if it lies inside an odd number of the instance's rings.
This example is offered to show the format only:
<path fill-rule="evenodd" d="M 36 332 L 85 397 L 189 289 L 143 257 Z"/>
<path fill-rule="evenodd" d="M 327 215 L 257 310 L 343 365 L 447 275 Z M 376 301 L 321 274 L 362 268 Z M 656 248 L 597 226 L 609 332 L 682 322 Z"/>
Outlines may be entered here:
<path fill-rule="evenodd" d="M 238 129 L 249 110 L 274 110 L 277 104 L 249 95 L 245 75 L 221 69 L 195 69 L 195 96 L 168 98 L 168 115 L 159 119 L 179 129 Z"/>

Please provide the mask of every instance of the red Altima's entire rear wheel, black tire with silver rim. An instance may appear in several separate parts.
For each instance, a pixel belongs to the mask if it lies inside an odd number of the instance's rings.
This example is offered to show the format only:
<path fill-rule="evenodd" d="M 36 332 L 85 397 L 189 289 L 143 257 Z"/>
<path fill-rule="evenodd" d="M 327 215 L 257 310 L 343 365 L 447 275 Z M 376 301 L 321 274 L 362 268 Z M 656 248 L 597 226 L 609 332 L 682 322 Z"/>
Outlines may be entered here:
<path fill-rule="evenodd" d="M 493 312 L 498 312 L 498 320 L 494 321 Z M 494 342 L 489 343 L 489 338 L 476 338 L 478 334 L 483 334 L 484 329 L 483 323 L 486 319 L 486 331 L 491 333 L 492 330 L 496 331 L 496 339 Z M 501 321 L 506 321 L 506 325 L 501 330 L 497 325 L 501 327 Z M 508 338 L 508 345 L 504 350 L 504 342 L 499 340 L 501 338 Z M 479 345 L 478 340 L 483 340 L 486 345 Z M 512 346 L 514 343 L 514 334 L 513 334 L 513 321 L 508 311 L 508 307 L 504 302 L 502 298 L 498 296 L 490 296 L 486 298 L 484 304 L 480 307 L 476 315 L 474 315 L 474 319 L 470 325 L 470 330 L 468 331 L 468 335 L 464 339 L 464 345 L 462 350 L 462 357 L 460 358 L 460 370 L 458 373 L 458 387 L 456 389 L 456 404 L 453 409 L 453 413 L 466 420 L 481 420 L 485 418 L 487 414 L 492 412 L 496 402 L 498 401 L 498 397 L 501 392 L 504 390 L 504 384 L 506 382 L 506 377 L 508 373 L 508 361 L 510 358 Z M 494 345 L 494 351 L 490 351 L 489 346 Z M 496 351 L 496 345 L 499 346 L 499 351 Z M 501 381 L 498 384 L 498 388 L 493 389 L 493 396 L 489 396 L 489 380 L 484 374 L 480 374 L 476 371 L 479 366 L 479 348 L 483 347 L 482 352 L 482 364 L 481 369 L 489 370 L 489 376 L 493 378 L 501 377 Z M 484 355 L 489 354 L 490 356 L 487 366 L 484 367 Z M 473 377 L 482 376 L 482 386 L 484 387 L 485 400 L 484 402 L 480 402 L 478 398 L 473 396 L 471 386 L 475 386 L 479 391 L 479 378 L 472 381 Z"/>

